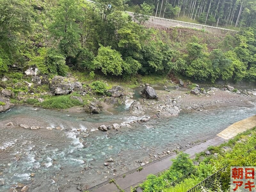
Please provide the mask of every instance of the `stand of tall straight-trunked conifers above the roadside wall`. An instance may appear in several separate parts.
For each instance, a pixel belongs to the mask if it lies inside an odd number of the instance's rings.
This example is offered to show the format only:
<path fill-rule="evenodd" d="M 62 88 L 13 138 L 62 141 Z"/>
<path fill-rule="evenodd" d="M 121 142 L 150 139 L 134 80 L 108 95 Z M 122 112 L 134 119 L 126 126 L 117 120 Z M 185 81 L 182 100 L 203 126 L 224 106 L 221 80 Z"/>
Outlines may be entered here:
<path fill-rule="evenodd" d="M 130 5 L 144 0 L 131 0 Z M 175 18 L 187 16 L 202 24 L 249 27 L 255 24 L 256 6 L 253 0 L 146 0 L 154 16 Z"/>

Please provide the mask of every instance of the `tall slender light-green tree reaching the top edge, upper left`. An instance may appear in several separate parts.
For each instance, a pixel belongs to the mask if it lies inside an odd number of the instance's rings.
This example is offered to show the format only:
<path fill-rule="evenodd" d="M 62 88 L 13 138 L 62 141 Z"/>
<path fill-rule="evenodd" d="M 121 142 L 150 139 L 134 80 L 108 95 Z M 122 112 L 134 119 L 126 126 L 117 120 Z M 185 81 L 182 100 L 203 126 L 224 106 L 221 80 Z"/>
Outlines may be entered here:
<path fill-rule="evenodd" d="M 66 57 L 74 57 L 81 47 L 81 30 L 77 24 L 81 7 L 78 3 L 78 0 L 60 0 L 59 6 L 53 8 L 53 22 L 49 30 Z"/>

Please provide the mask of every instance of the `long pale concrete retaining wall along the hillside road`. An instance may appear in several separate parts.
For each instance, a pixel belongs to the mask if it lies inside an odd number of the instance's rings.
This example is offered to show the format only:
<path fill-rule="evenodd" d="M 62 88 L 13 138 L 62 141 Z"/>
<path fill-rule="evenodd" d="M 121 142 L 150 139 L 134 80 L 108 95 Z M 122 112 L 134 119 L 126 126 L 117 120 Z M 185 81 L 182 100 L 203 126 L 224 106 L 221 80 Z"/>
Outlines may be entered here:
<path fill-rule="evenodd" d="M 133 17 L 133 12 L 127 12 L 130 16 Z M 170 20 L 170 19 L 163 19 L 160 17 L 153 17 L 148 16 L 149 20 L 144 23 L 146 26 L 162 26 L 164 28 L 169 27 L 185 27 L 185 28 L 196 28 L 199 30 L 205 30 L 208 32 L 211 32 L 216 35 L 223 36 L 227 33 L 229 34 L 236 34 L 238 31 L 231 30 L 231 29 L 225 29 L 225 28 L 219 28 L 219 27 L 212 27 L 208 25 L 201 25 L 201 24 L 195 24 L 195 23 L 188 23 L 183 21 L 177 21 L 177 20 Z"/>

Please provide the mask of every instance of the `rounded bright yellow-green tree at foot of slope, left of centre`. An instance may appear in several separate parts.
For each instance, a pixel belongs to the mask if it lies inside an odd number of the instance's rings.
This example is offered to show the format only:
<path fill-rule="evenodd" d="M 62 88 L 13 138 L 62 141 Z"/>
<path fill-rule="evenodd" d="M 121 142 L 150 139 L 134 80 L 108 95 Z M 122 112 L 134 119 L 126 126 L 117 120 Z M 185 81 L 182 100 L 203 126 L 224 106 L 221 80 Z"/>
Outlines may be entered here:
<path fill-rule="evenodd" d="M 100 68 L 105 75 L 122 75 L 124 63 L 122 56 L 110 46 L 100 45 L 98 55 L 94 58 L 93 63 L 95 68 Z"/>

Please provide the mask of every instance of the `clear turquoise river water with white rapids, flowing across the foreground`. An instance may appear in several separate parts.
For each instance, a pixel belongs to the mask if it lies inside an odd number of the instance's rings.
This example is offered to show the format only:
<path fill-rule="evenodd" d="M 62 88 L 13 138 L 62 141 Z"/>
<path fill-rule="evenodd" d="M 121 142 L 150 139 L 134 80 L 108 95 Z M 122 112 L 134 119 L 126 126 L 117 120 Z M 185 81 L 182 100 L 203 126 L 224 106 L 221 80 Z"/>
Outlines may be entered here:
<path fill-rule="evenodd" d="M 0 191 L 8 191 L 17 182 L 28 184 L 33 192 L 78 191 L 79 183 L 92 187 L 113 178 L 113 173 L 123 174 L 140 166 L 139 160 L 150 161 L 149 154 L 207 139 L 255 115 L 255 111 L 255 107 L 228 107 L 181 112 L 179 116 L 151 118 L 143 124 L 101 132 L 95 131 L 100 124 L 137 117 L 125 106 L 93 115 L 14 107 L 0 114 L 0 122 L 14 123 L 14 127 L 0 127 Z M 29 126 L 61 130 L 23 129 L 17 123 L 24 119 Z M 114 162 L 104 166 L 110 157 Z M 30 177 L 31 173 L 35 176 Z"/>

